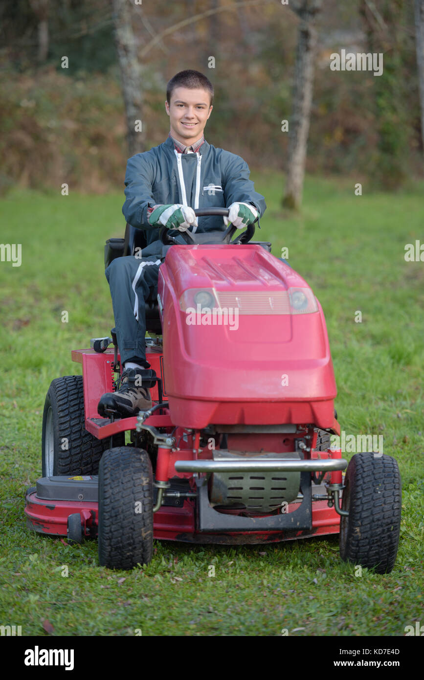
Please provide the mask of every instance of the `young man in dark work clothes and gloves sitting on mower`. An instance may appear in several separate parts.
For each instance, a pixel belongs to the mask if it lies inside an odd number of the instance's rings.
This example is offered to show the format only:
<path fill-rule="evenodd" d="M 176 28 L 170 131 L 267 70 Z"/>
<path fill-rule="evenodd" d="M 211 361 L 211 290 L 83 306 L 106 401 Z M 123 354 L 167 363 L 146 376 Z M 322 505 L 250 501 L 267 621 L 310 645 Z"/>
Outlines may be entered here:
<path fill-rule="evenodd" d="M 103 394 L 105 409 L 122 416 L 151 407 L 149 390 L 137 379 L 137 370 L 149 368 L 145 358 L 145 301 L 157 295 L 162 243 L 159 227 L 171 235 L 188 228 L 200 232 L 224 231 L 232 222 L 245 228 L 266 210 L 264 197 L 249 180 L 245 160 L 209 144 L 203 135 L 213 106 L 213 86 L 198 71 L 180 71 L 166 88 L 168 139 L 150 151 L 129 158 L 126 166 L 126 201 L 122 212 L 129 224 L 145 230 L 143 258 L 119 257 L 106 269 L 111 290 L 116 335 L 124 367 L 120 389 Z M 228 207 L 228 218 L 196 219 L 194 209 Z M 177 231 L 173 231 L 177 230 Z M 140 374 L 141 375 L 141 374 Z"/>

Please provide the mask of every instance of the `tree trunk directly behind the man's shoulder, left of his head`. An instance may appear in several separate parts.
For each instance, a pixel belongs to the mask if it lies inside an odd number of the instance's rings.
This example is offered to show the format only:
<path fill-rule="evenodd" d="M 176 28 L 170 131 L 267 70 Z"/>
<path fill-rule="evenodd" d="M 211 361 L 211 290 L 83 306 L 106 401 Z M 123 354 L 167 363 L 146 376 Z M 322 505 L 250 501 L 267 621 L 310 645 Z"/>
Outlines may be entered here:
<path fill-rule="evenodd" d="M 145 149 L 141 67 L 137 58 L 137 46 L 131 23 L 131 10 L 134 5 L 130 0 L 112 0 L 112 5 L 116 50 L 126 112 L 128 153 L 130 156 L 134 156 Z M 143 11 L 141 6 L 137 5 L 137 11 Z M 137 120 L 141 120 L 141 131 L 136 130 Z M 137 126 L 139 127 L 139 124 Z"/>

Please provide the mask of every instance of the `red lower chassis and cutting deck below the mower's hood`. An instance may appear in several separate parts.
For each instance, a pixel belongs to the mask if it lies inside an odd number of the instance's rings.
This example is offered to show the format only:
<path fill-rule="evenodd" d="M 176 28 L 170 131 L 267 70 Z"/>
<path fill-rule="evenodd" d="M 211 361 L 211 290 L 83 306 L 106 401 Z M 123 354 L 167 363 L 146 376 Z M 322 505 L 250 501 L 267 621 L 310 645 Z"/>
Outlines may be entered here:
<path fill-rule="evenodd" d="M 118 355 L 119 358 L 119 355 Z M 113 350 L 106 350 L 103 354 L 97 354 L 94 350 L 73 350 L 72 359 L 82 364 L 84 383 L 84 407 L 85 426 L 97 439 L 111 437 L 117 432 L 135 430 L 137 418 L 123 418 L 110 422 L 100 418 L 97 413 L 99 398 L 105 392 L 113 390 Z M 166 398 L 166 384 L 164 384 L 164 372 L 162 350 L 159 346 L 150 345 L 147 348 L 147 360 L 156 371 L 156 375 L 162 377 L 163 396 Z M 158 402 L 158 387 L 151 390 L 152 401 Z M 146 424 L 156 428 L 169 428 L 169 432 L 175 430 L 175 424 L 171 421 L 168 409 L 163 409 L 163 415 L 151 415 Z M 340 426 L 334 419 L 332 429 L 340 435 Z M 305 426 L 305 434 L 308 429 Z M 314 449 L 317 433 L 310 430 L 311 449 Z M 186 435 L 186 440 L 183 439 Z M 187 430 L 177 427 L 173 436 L 177 440 L 177 450 L 158 448 L 156 464 L 156 481 L 166 481 L 172 477 L 181 477 L 193 480 L 192 473 L 177 472 L 176 460 L 205 459 L 211 457 L 208 447 L 199 449 L 200 430 Z M 178 448 L 180 441 L 186 445 Z M 341 458 L 341 450 L 328 452 L 311 451 L 311 458 Z M 325 479 L 331 483 L 342 482 L 342 472 L 334 471 L 327 473 Z M 193 488 L 195 488 L 193 486 Z M 318 487 L 316 487 L 319 490 Z M 287 512 L 292 512 L 299 507 L 300 503 L 290 503 Z M 56 536 L 67 535 L 67 518 L 73 513 L 79 513 L 82 519 L 83 534 L 86 537 L 95 537 L 98 522 L 98 504 L 88 503 L 84 500 L 41 500 L 37 498 L 35 491 L 27 494 L 25 513 L 29 526 L 38 532 Z M 324 534 L 338 534 L 340 528 L 340 515 L 334 507 L 329 507 L 327 500 L 313 500 L 312 503 L 312 530 L 289 530 L 289 531 L 249 531 L 249 532 L 226 532 L 207 534 L 196 530 L 196 501 L 186 498 L 182 507 L 162 506 L 154 514 L 154 538 L 170 541 L 187 541 L 192 543 L 272 543 L 287 541 L 298 538 L 307 538 Z"/>

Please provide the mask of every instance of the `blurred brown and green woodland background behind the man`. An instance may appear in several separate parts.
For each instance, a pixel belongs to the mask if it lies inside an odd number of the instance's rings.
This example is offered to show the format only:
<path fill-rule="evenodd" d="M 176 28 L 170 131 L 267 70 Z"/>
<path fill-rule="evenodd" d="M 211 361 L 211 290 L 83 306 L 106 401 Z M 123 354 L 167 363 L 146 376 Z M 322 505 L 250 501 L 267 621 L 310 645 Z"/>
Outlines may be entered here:
<path fill-rule="evenodd" d="M 115 5 L 3 0 L 1 193 L 16 185 L 56 190 L 63 182 L 82 192 L 123 186 L 129 154 Z M 255 169 L 285 171 L 288 133 L 281 121 L 292 114 L 299 23 L 289 5 L 281 0 L 130 5 L 141 74 L 142 148 L 166 138 L 166 82 L 192 68 L 215 87 L 207 141 L 240 154 Z M 351 175 L 355 182 L 366 179 L 391 190 L 421 177 L 413 3 L 325 0 L 317 31 L 306 171 Z M 383 75 L 330 70 L 330 54 L 341 49 L 383 52 Z M 64 56 L 68 68 L 62 67 Z"/>

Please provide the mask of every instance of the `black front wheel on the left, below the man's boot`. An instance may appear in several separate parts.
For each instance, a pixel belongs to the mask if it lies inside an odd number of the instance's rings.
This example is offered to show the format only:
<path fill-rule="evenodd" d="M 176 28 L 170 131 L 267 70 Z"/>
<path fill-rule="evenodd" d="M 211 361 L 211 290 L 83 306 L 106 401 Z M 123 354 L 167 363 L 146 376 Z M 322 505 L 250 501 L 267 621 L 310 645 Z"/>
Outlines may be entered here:
<path fill-rule="evenodd" d="M 132 569 L 153 553 L 153 473 L 143 449 L 105 451 L 99 466 L 99 564 Z"/>

